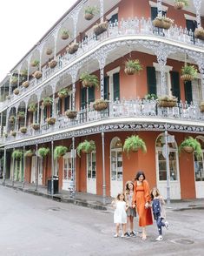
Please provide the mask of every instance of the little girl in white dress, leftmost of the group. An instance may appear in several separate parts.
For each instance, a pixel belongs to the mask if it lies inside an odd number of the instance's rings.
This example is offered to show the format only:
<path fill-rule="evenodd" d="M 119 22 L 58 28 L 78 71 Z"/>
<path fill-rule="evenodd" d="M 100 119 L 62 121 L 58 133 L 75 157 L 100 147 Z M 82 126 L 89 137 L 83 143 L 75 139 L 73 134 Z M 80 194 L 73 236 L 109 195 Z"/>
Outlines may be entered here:
<path fill-rule="evenodd" d="M 118 238 L 120 224 L 122 224 L 122 238 L 124 238 L 124 233 L 126 232 L 126 223 L 127 223 L 127 205 L 125 202 L 124 193 L 119 193 L 116 199 L 112 202 L 112 205 L 115 206 L 114 212 L 114 223 L 116 224 L 116 233 L 114 235 L 115 238 Z"/>

